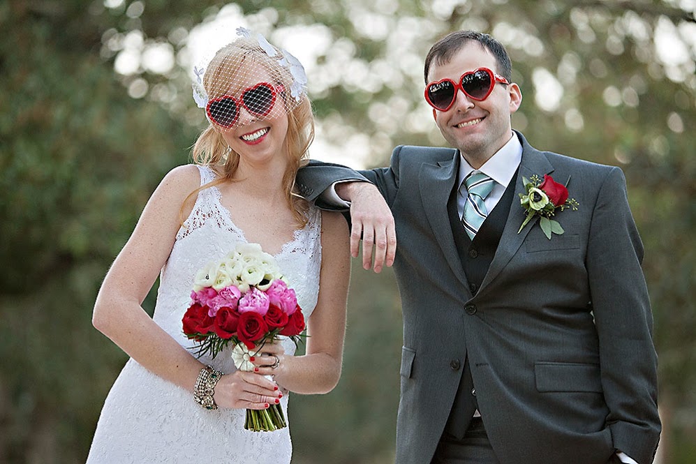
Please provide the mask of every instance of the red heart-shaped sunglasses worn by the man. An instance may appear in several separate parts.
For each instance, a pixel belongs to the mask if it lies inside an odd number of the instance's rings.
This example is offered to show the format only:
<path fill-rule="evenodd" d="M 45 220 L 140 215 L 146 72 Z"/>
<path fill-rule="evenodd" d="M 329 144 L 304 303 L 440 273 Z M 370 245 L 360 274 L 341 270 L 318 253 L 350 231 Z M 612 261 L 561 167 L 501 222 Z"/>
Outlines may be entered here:
<path fill-rule="evenodd" d="M 488 98 L 496 82 L 510 84 L 505 77 L 497 75 L 489 68 L 478 68 L 459 77 L 459 82 L 443 79 L 431 82 L 425 87 L 425 100 L 436 110 L 447 111 L 457 98 L 457 90 L 464 92 L 472 100 L 482 101 Z"/>

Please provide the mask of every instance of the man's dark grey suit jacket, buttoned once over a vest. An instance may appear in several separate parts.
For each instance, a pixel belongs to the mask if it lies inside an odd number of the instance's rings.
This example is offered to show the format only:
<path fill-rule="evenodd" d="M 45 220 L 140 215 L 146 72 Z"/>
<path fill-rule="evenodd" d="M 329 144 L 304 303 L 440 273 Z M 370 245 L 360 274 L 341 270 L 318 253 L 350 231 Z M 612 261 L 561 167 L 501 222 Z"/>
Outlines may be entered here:
<path fill-rule="evenodd" d="M 394 270 L 403 306 L 397 463 L 431 461 L 466 356 L 491 445 L 505 464 L 605 464 L 614 449 L 651 463 L 660 434 L 657 357 L 641 269 L 643 247 L 623 173 L 531 147 L 508 222 L 475 297 L 447 217 L 457 181 L 454 149 L 397 147 L 390 167 L 360 172 L 394 214 Z M 524 220 L 522 176 L 570 177 L 578 211 L 551 240 Z M 360 179 L 338 165 L 298 174 L 309 199 L 333 181 Z M 455 362 L 452 362 L 455 361 Z"/>

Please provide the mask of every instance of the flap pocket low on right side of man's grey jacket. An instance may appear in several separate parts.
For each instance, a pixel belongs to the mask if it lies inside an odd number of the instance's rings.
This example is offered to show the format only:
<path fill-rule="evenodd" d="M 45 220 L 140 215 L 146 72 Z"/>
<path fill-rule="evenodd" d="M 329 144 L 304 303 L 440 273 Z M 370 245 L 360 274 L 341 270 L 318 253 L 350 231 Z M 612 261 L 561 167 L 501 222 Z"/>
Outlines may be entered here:
<path fill-rule="evenodd" d="M 534 364 L 538 391 L 588 391 L 602 393 L 598 364 L 539 361 Z"/>

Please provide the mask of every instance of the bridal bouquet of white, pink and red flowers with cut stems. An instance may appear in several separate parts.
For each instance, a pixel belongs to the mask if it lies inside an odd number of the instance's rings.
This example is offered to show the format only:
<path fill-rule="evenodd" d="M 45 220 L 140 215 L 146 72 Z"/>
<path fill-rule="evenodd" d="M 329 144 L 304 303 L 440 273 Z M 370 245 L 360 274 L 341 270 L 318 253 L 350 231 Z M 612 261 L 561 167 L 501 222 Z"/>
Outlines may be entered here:
<path fill-rule="evenodd" d="M 251 357 L 265 343 L 278 335 L 298 343 L 305 327 L 295 290 L 258 244 L 239 244 L 198 271 L 182 324 L 184 334 L 198 343 L 198 357 L 209 353 L 214 358 L 231 344 L 232 359 L 242 371 L 253 371 Z M 246 430 L 275 431 L 286 425 L 279 404 L 246 410 Z"/>

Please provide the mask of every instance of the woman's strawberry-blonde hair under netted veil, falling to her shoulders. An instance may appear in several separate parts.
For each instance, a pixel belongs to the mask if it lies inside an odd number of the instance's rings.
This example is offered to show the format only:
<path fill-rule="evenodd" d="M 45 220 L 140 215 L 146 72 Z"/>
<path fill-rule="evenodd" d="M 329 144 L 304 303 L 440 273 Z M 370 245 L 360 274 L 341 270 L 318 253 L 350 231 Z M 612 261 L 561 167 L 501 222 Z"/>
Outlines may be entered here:
<path fill-rule="evenodd" d="M 282 54 L 279 49 L 275 47 L 274 49 Z M 307 151 L 314 140 L 314 115 L 311 102 L 306 95 L 302 95 L 299 103 L 290 96 L 289 89 L 294 80 L 290 70 L 281 66 L 277 59 L 269 57 L 252 38 L 239 38 L 215 54 L 203 77 L 203 87 L 209 98 L 217 98 L 230 91 L 239 90 L 230 89 L 230 77 L 242 73 L 242 67 L 262 68 L 274 81 L 276 87 L 283 89 L 278 93 L 280 101 L 276 101 L 276 105 L 282 104 L 288 109 L 288 133 L 284 146 L 288 156 L 288 168 L 283 174 L 283 186 L 286 190 L 288 207 L 292 209 L 297 225 L 304 227 L 307 223 L 306 212 L 309 204 L 295 191 L 295 175 L 297 170 L 308 162 Z M 231 181 L 239 167 L 239 154 L 228 147 L 220 130 L 210 123 L 193 144 L 191 158 L 195 164 L 211 167 L 218 175 L 218 179 L 188 194 L 182 204 L 182 223 L 184 207 L 195 201 L 195 195 L 198 195 L 200 190 Z"/>

